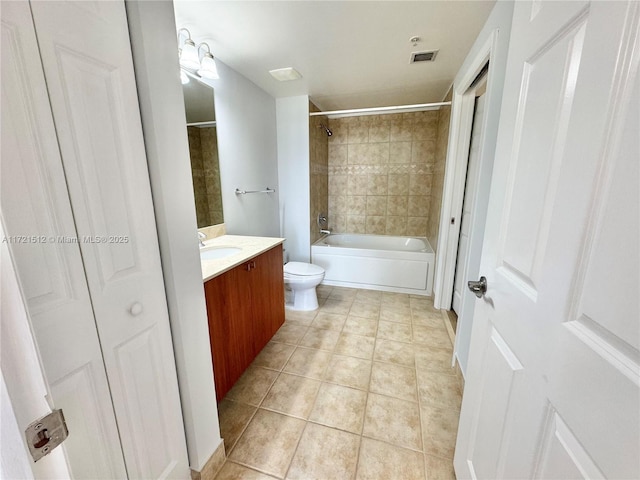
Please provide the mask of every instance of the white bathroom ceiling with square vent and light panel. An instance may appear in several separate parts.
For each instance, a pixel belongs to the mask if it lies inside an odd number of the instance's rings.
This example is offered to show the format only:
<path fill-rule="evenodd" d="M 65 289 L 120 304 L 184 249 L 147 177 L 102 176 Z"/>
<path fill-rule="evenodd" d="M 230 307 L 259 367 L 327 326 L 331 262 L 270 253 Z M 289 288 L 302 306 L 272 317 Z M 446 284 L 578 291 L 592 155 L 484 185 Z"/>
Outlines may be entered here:
<path fill-rule="evenodd" d="M 174 0 L 176 25 L 274 97 L 308 94 L 322 110 L 438 102 L 491 1 Z M 421 37 L 417 46 L 409 41 Z M 439 49 L 433 63 L 411 52 Z M 278 82 L 269 70 L 303 78 Z"/>

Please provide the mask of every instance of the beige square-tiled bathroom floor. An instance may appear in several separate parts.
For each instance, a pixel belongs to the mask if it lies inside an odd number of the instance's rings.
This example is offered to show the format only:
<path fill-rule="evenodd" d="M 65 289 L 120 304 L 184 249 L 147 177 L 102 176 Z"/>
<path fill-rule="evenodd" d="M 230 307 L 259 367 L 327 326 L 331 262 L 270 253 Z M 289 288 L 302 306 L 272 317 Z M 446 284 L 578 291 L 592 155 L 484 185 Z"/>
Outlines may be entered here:
<path fill-rule="evenodd" d="M 219 405 L 228 479 L 451 479 L 460 410 L 430 299 L 318 287 Z"/>

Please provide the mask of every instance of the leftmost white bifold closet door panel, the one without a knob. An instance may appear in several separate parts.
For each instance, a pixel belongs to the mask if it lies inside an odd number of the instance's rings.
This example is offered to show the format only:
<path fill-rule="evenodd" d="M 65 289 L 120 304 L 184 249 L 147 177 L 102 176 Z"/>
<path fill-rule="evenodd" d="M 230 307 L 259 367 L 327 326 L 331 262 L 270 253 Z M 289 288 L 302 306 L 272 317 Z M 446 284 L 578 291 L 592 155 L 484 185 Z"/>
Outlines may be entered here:
<path fill-rule="evenodd" d="M 52 406 L 64 410 L 71 431 L 62 448 L 73 476 L 125 478 L 29 3 L 3 3 L 1 15 L 0 208 L 6 239 Z"/>

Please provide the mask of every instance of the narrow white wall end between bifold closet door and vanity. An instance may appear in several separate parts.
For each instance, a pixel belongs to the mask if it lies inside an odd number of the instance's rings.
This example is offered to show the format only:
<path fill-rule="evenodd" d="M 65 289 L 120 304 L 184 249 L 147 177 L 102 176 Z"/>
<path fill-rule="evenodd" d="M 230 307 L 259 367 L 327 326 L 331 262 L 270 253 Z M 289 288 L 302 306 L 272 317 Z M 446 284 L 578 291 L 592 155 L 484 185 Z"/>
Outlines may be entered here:
<path fill-rule="evenodd" d="M 201 471 L 222 440 L 173 4 L 148 1 L 127 2 L 126 6 L 189 465 Z"/>

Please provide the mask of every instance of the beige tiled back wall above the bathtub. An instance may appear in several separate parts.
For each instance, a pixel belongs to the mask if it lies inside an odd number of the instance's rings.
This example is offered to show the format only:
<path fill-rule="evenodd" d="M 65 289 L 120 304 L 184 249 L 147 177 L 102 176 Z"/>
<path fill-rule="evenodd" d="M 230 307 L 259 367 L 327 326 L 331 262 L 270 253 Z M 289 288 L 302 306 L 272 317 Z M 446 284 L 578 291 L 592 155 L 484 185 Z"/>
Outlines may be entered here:
<path fill-rule="evenodd" d="M 431 195 L 440 191 L 432 186 L 439 118 L 437 111 L 430 111 L 329 121 L 330 128 L 349 132 L 346 145 L 344 139 L 328 142 L 333 163 L 327 210 L 333 231 L 427 235 Z M 315 147 L 321 148 L 321 144 Z M 314 197 L 322 191 L 321 185 L 313 185 Z M 407 195 L 421 198 L 410 200 Z M 362 196 L 402 198 L 387 198 L 384 207 L 380 199 L 369 198 L 363 210 L 363 200 L 355 198 Z"/>

